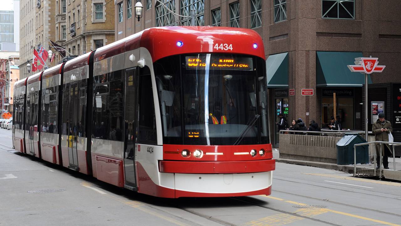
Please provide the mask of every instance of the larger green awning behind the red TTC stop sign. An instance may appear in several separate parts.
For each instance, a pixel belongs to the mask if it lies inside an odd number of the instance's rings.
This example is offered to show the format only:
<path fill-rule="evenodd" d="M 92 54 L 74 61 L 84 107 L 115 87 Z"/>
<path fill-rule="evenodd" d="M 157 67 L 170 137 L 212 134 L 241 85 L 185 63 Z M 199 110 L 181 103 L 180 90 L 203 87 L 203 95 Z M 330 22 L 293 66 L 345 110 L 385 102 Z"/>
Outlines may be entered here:
<path fill-rule="evenodd" d="M 316 87 L 361 87 L 365 75 L 351 72 L 347 65 L 354 65 L 354 58 L 363 57 L 361 52 L 316 51 Z M 371 76 L 368 82 L 372 84 Z"/>

